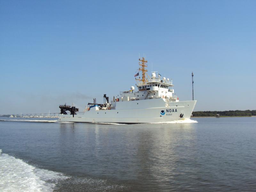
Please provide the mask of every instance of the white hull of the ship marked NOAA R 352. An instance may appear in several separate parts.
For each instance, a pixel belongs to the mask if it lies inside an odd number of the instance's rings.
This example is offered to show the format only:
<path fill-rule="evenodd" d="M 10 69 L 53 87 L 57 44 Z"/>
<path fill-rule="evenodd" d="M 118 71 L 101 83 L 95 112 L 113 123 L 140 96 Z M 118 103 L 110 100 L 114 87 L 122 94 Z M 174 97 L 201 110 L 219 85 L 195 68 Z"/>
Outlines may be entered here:
<path fill-rule="evenodd" d="M 97 123 L 161 123 L 190 118 L 196 105 L 193 101 L 166 102 L 165 99 L 147 99 L 114 102 L 110 110 L 93 107 L 83 114 L 60 115 L 60 122 Z"/>

